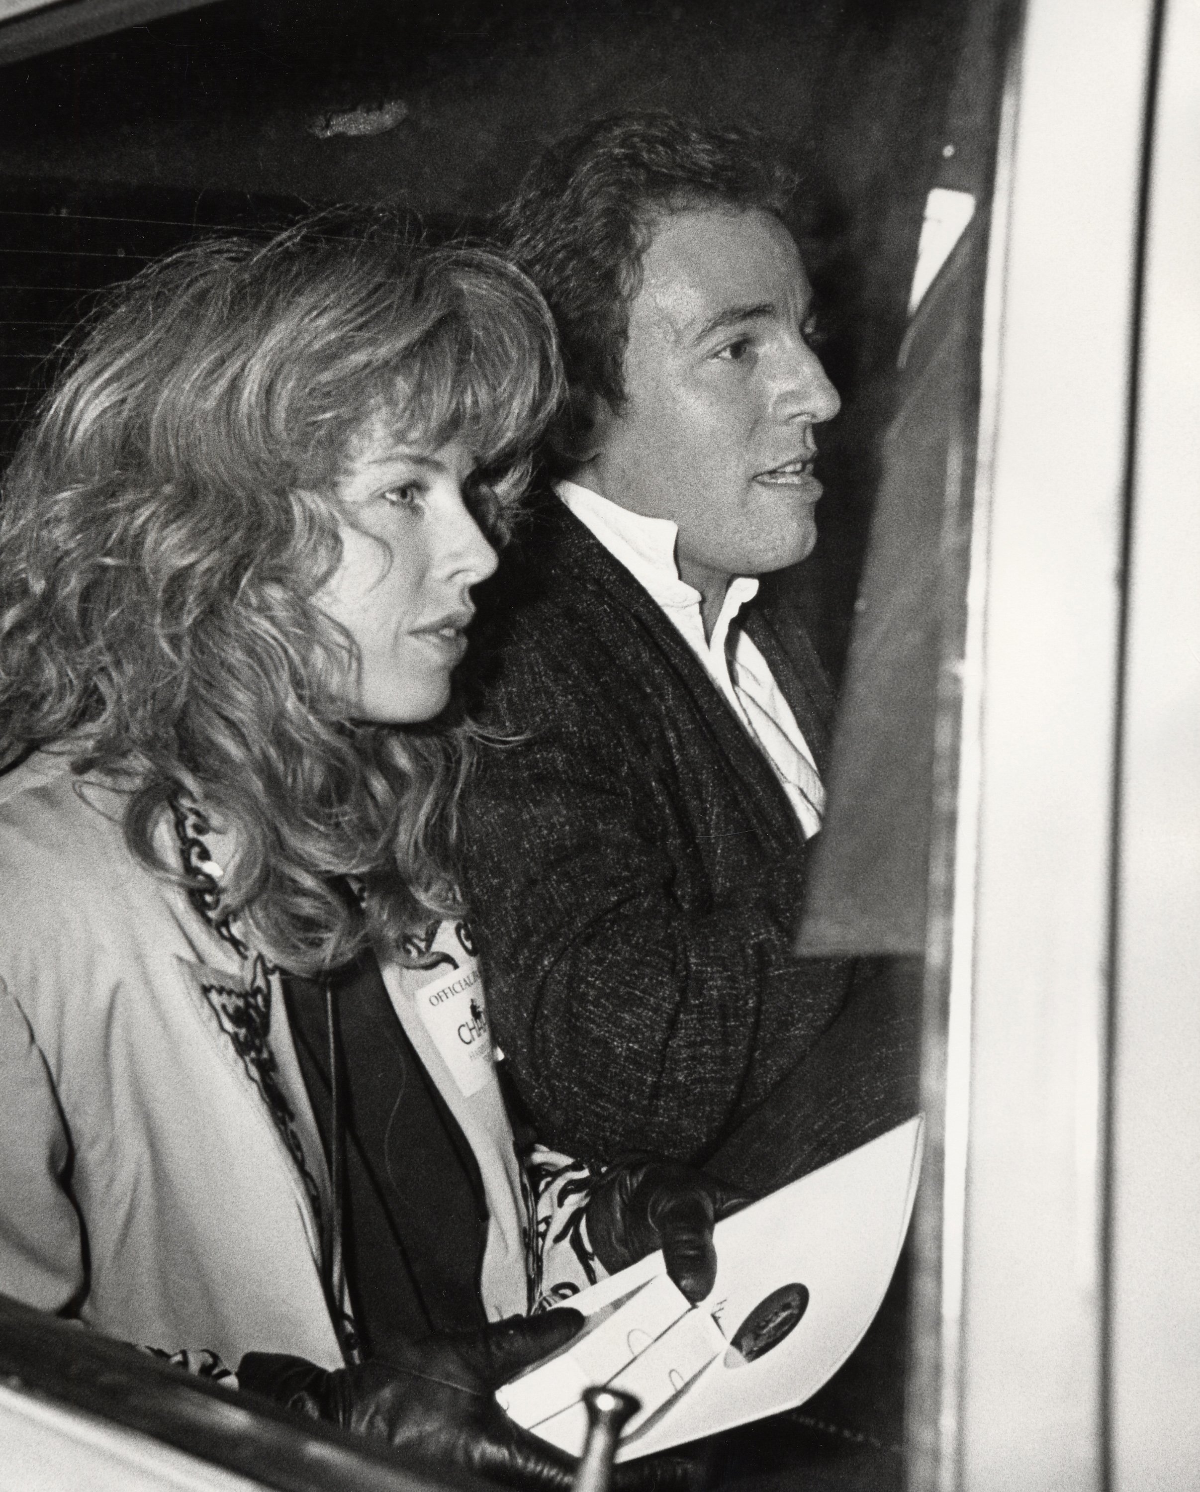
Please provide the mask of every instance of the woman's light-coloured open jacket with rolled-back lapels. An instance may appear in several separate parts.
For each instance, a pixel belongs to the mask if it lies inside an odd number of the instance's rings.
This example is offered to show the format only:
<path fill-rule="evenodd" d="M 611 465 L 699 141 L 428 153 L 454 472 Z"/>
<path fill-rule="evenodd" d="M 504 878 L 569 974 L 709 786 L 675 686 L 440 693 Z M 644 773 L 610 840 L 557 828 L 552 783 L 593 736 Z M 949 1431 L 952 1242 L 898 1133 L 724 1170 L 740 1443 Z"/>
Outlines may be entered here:
<path fill-rule="evenodd" d="M 0 1292 L 169 1352 L 337 1367 L 330 1180 L 278 974 L 130 853 L 124 806 L 63 755 L 0 777 Z M 176 828 L 157 833 L 182 867 Z M 479 1162 L 487 1313 L 524 1311 L 496 1077 L 464 1097 L 406 1019 L 428 973 L 384 977 Z"/>

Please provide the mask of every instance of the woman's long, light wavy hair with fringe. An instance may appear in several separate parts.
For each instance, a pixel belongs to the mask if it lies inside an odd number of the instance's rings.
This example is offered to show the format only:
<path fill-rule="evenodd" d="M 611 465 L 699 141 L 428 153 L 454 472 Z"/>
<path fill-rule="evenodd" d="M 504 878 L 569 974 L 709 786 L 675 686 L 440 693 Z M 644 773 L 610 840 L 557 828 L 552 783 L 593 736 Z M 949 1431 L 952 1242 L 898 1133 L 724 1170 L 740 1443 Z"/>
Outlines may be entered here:
<path fill-rule="evenodd" d="M 458 910 L 472 730 L 454 709 L 425 728 L 339 719 L 348 640 L 312 601 L 340 557 L 333 486 L 379 416 L 430 449 L 460 436 L 501 539 L 560 391 L 531 282 L 385 216 L 149 266 L 3 480 L 0 762 L 57 745 L 127 782 L 127 843 L 166 874 L 157 825 L 203 806 L 239 844 L 222 915 L 297 973 Z"/>

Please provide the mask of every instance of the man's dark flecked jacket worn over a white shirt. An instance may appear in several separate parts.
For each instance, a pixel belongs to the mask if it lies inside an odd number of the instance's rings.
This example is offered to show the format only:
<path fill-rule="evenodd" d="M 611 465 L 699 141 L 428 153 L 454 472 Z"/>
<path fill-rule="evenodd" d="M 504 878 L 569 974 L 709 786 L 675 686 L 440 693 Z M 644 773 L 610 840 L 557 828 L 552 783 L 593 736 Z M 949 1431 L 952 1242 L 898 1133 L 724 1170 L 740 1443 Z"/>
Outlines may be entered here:
<path fill-rule="evenodd" d="M 485 597 L 490 746 L 464 877 L 488 1013 L 542 1140 L 700 1161 L 837 1015 L 848 965 L 791 952 L 804 840 L 773 770 L 643 586 L 554 497 Z M 824 764 L 799 624 L 752 610 Z"/>

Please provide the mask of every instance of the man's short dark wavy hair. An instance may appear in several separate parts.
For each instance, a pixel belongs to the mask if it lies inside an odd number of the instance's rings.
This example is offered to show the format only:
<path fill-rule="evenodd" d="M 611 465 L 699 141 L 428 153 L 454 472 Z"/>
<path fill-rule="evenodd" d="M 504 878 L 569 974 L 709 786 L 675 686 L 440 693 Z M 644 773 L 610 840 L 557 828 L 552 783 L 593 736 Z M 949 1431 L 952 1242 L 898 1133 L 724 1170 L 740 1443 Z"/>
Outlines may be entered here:
<path fill-rule="evenodd" d="M 796 186 L 764 136 L 666 112 L 596 119 L 534 163 L 500 231 L 554 312 L 573 418 L 588 395 L 624 403 L 628 307 L 655 222 L 710 204 L 782 218 Z"/>

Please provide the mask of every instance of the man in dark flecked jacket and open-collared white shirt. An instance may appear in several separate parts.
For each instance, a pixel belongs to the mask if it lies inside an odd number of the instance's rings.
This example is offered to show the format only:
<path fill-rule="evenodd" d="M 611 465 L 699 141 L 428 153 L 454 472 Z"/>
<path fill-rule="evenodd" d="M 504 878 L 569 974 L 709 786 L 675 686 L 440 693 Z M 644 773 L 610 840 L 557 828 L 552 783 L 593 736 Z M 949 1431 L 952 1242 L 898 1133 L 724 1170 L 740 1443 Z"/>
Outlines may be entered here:
<path fill-rule="evenodd" d="M 506 212 L 570 385 L 561 476 L 501 573 L 466 877 L 539 1135 L 749 1189 L 910 1112 L 909 1013 L 793 953 L 830 691 L 752 603 L 816 542 L 839 398 L 745 136 L 666 115 L 548 152 Z"/>

